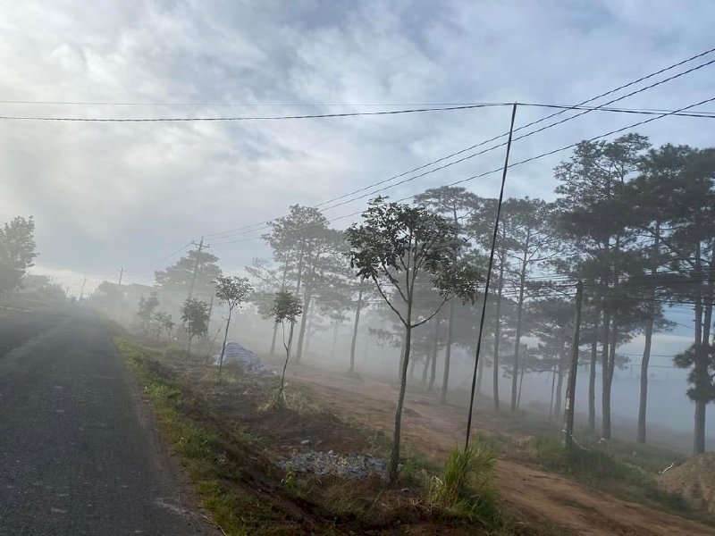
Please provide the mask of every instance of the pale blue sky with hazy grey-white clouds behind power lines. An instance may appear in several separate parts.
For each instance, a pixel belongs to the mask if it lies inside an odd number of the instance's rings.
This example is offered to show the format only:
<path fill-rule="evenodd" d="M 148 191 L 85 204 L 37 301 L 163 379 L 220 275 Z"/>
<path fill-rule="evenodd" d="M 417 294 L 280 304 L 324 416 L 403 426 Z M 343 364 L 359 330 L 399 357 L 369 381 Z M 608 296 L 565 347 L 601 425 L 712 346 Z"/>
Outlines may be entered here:
<path fill-rule="evenodd" d="M 144 104 L 6 103 L 1 115 L 155 118 L 575 104 L 711 48 L 715 3 L 3 0 L 0 13 L 0 100 Z M 707 67 L 618 105 L 690 105 L 715 96 L 714 73 Z M 545 113 L 520 108 L 517 126 Z M 513 159 L 642 119 L 589 113 L 517 142 Z M 639 131 L 654 144 L 705 147 L 708 121 L 668 118 Z M 90 285 L 116 278 L 122 266 L 124 281 L 150 282 L 178 258 L 162 257 L 202 234 L 387 179 L 508 122 L 506 107 L 294 121 L 0 121 L 0 217 L 34 215 L 38 272 L 75 289 L 84 276 Z M 566 157 L 515 167 L 508 195 L 552 197 L 551 169 Z M 405 197 L 502 159 L 492 151 L 386 193 Z M 466 186 L 494 195 L 497 180 Z M 257 235 L 209 240 L 224 271 L 270 255 L 250 239 Z"/>

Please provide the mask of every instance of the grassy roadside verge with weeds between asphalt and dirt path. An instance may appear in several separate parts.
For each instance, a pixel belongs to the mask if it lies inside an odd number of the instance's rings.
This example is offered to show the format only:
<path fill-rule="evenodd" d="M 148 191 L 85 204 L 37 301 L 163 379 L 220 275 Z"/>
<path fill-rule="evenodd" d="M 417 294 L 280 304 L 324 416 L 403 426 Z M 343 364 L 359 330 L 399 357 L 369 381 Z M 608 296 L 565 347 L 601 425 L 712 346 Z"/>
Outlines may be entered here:
<path fill-rule="evenodd" d="M 312 449 L 388 459 L 382 433 L 345 423 L 308 389 L 287 386 L 281 406 L 267 404 L 279 378 L 247 377 L 224 366 L 218 381 L 202 356 L 116 337 L 130 370 L 195 484 L 201 503 L 226 534 L 429 533 L 556 534 L 509 523 L 492 485 L 494 454 L 482 441 L 435 466 L 414 452 L 386 474 L 349 479 L 301 473 L 290 463 Z M 435 532 L 436 531 L 436 532 Z"/>

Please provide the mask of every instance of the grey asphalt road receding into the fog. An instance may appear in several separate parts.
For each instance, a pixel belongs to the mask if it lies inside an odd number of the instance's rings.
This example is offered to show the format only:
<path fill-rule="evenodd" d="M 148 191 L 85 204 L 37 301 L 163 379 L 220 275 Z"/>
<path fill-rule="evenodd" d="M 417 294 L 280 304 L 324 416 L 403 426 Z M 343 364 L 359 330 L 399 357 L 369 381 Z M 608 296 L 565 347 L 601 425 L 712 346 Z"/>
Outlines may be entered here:
<path fill-rule="evenodd" d="M 0 535 L 214 534 L 182 490 L 97 317 L 0 318 Z"/>

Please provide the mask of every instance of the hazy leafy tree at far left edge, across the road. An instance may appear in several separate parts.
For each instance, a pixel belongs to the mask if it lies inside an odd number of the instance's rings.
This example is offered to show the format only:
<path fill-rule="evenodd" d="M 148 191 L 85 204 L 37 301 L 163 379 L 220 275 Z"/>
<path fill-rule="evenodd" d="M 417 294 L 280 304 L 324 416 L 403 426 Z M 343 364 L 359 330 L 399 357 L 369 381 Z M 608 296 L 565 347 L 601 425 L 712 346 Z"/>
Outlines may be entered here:
<path fill-rule="evenodd" d="M 0 229 L 0 296 L 21 286 L 35 253 L 35 221 L 17 216 Z"/>

